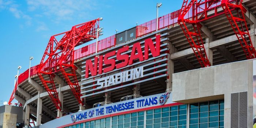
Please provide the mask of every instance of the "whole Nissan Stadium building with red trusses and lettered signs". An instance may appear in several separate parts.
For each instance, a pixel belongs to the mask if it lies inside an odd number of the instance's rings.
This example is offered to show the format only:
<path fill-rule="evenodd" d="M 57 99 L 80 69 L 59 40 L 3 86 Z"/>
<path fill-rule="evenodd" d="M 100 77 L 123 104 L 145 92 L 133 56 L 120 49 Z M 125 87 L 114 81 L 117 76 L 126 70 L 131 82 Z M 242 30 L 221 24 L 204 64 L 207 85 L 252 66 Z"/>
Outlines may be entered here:
<path fill-rule="evenodd" d="M 101 40 L 102 18 L 52 35 L 41 63 L 18 76 L 8 102 L 16 99 L 22 107 L 14 123 L 252 128 L 256 0 L 184 0 L 178 6 Z"/>

